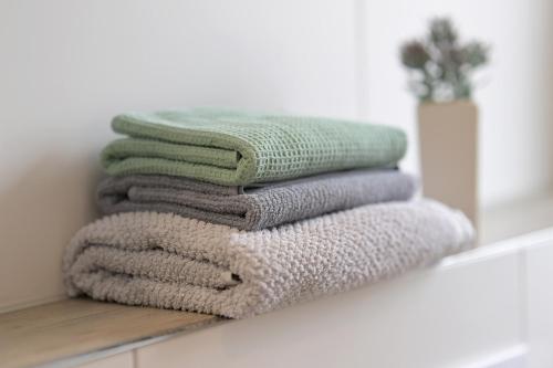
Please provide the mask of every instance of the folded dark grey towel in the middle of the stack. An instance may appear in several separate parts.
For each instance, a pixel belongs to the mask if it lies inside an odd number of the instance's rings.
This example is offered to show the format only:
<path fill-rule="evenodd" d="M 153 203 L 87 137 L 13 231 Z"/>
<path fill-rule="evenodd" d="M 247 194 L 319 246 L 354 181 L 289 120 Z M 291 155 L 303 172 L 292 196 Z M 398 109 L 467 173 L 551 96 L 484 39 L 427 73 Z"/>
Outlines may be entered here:
<path fill-rule="evenodd" d="M 395 170 L 334 172 L 246 189 L 133 175 L 105 179 L 98 186 L 97 202 L 107 214 L 173 212 L 241 230 L 261 230 L 363 204 L 408 200 L 415 190 L 415 179 Z"/>

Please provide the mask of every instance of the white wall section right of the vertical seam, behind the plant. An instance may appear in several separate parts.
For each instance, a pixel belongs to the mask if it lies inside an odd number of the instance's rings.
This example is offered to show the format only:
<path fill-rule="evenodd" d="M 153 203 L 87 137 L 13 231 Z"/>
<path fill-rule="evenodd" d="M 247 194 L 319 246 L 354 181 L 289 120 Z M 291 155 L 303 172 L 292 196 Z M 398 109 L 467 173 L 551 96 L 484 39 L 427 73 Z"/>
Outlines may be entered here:
<path fill-rule="evenodd" d="M 359 0 L 361 1 L 361 0 Z M 493 206 L 549 188 L 553 174 L 553 2 L 551 0 L 371 0 L 365 7 L 366 105 L 363 115 L 411 136 L 406 168 L 418 170 L 416 102 L 399 64 L 401 42 L 428 19 L 449 15 L 461 36 L 492 45 L 476 92 L 480 105 L 480 197 Z"/>

